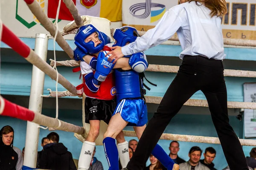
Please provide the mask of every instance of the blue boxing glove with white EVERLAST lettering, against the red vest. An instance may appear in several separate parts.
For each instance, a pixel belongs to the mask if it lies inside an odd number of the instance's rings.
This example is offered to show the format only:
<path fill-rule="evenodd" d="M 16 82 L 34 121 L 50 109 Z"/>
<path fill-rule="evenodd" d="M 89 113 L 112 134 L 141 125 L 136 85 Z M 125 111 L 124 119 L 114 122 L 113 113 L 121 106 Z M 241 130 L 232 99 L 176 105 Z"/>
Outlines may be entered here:
<path fill-rule="evenodd" d="M 111 70 L 114 67 L 114 63 L 108 61 L 108 57 L 105 57 L 105 55 L 108 53 L 108 51 L 100 52 L 97 58 L 97 64 L 96 64 L 96 72 L 94 74 L 94 78 L 97 79 L 100 82 L 104 82 L 107 78 L 108 74 L 111 72 Z"/>

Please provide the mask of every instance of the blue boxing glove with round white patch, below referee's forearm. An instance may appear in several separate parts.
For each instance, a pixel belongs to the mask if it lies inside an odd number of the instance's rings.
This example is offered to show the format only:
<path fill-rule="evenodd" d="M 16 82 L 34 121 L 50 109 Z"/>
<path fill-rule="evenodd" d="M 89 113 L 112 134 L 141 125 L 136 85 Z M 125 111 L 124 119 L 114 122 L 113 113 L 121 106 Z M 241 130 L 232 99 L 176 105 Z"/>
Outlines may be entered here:
<path fill-rule="evenodd" d="M 137 73 L 142 73 L 148 68 L 147 57 L 143 52 L 132 54 L 129 59 L 129 65 Z"/>

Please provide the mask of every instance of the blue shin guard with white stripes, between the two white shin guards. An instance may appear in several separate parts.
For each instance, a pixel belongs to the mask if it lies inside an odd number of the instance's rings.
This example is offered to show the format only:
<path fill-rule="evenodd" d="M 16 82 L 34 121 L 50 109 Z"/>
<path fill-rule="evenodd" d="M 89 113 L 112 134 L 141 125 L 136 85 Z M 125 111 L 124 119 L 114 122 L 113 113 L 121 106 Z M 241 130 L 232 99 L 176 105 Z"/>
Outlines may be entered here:
<path fill-rule="evenodd" d="M 111 137 L 106 137 L 103 140 L 105 156 L 108 161 L 108 170 L 119 170 L 118 150 L 116 147 L 116 140 Z"/>

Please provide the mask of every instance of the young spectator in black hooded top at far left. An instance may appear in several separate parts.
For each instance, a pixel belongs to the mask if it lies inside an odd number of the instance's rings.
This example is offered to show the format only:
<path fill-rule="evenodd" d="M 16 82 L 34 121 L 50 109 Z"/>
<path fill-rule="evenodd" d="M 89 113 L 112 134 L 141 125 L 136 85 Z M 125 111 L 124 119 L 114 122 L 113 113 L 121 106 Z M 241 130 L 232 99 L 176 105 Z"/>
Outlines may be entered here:
<path fill-rule="evenodd" d="M 0 137 L 0 170 L 21 170 L 23 158 L 21 150 L 13 146 L 13 128 L 4 126 L 0 130 Z"/>

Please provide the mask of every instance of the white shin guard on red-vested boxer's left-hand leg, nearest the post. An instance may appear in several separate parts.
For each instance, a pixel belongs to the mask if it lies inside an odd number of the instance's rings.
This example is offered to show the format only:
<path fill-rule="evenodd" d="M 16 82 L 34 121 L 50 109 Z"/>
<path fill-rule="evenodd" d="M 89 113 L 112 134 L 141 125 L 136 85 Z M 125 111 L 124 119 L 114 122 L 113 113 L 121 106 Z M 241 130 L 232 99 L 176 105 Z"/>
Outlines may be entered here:
<path fill-rule="evenodd" d="M 78 161 L 78 170 L 88 170 L 93 157 L 94 142 L 84 141 Z"/>

